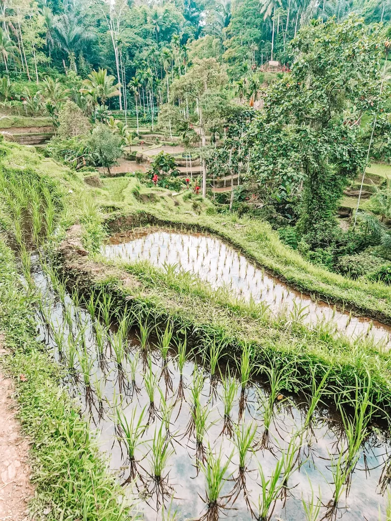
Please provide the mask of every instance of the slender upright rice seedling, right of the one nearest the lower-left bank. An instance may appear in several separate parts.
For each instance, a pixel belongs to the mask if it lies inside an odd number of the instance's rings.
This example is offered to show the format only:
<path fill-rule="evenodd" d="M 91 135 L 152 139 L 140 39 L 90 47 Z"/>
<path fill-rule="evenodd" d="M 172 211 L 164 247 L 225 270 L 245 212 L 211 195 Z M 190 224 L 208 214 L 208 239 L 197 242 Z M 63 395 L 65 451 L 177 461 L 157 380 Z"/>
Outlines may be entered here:
<path fill-rule="evenodd" d="M 167 478 L 168 472 L 164 475 L 165 469 L 168 465 L 169 458 L 174 454 L 174 449 L 170 446 L 167 440 L 164 423 L 160 428 L 155 427 L 155 433 L 151 446 L 151 460 L 150 460 L 150 477 L 152 479 L 153 487 L 150 494 L 156 494 L 156 506 L 160 504 L 160 499 L 167 495 L 171 495 L 172 489 L 168 486 Z"/>

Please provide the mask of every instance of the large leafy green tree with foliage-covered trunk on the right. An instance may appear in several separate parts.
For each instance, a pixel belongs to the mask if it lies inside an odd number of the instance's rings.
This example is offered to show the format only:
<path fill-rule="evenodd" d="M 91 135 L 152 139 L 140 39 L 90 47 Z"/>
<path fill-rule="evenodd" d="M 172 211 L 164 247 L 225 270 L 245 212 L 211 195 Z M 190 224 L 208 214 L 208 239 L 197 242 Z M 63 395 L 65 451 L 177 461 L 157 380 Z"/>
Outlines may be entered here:
<path fill-rule="evenodd" d="M 377 106 L 384 43 L 380 27 L 351 16 L 302 28 L 292 45 L 291 76 L 273 86 L 250 128 L 251 164 L 277 192 L 276 180 L 286 193 L 302 185 L 298 231 L 317 247 L 334 240 L 336 205 L 363 165 L 360 115 Z"/>

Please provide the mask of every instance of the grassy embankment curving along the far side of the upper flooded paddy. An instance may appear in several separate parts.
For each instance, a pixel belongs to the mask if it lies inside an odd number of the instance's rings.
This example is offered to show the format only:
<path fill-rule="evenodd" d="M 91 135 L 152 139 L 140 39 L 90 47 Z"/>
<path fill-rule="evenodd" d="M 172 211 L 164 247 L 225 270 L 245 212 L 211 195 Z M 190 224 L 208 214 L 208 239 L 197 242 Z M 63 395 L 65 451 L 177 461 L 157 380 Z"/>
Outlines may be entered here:
<path fill-rule="evenodd" d="M 272 271 L 291 287 L 391 323 L 391 288 L 365 279 L 349 279 L 314 266 L 282 244 L 267 222 L 213 215 L 209 202 L 197 201 L 194 196 L 186 200 L 186 195 L 173 196 L 167 190 L 148 189 L 136 178 L 104 179 L 103 183 L 102 189 L 91 189 L 91 193 L 103 211 L 111 212 L 106 219 L 108 229 L 125 230 L 126 217 L 132 215 L 132 222 L 141 225 L 148 221 L 160 222 L 210 232 L 240 249 L 251 261 Z M 201 210 L 200 215 L 193 209 L 193 201 L 197 212 Z M 199 209 L 198 203 L 201 204 Z"/>

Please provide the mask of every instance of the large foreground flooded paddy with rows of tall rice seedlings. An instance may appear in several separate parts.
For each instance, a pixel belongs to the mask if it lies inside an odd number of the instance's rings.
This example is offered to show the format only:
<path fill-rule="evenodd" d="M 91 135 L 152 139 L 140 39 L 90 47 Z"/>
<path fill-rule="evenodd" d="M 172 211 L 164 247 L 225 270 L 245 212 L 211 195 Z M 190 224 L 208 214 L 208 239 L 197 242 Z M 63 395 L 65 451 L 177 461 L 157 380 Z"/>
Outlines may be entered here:
<path fill-rule="evenodd" d="M 169 509 L 178 520 L 210 521 L 384 515 L 391 440 L 354 415 L 342 417 L 347 436 L 341 415 L 324 405 L 322 382 L 292 395 L 282 389 L 293 368 L 265 371 L 262 383 L 243 373 L 250 353 L 236 366 L 213 339 L 190 350 L 169 324 L 156 334 L 137 313 L 113 318 L 108 295 L 70 295 L 36 255 L 32 277 L 39 339 L 64 367 L 64 385 L 100 431 L 143 519 L 171 519 Z M 364 401 L 357 407 L 365 417 Z"/>

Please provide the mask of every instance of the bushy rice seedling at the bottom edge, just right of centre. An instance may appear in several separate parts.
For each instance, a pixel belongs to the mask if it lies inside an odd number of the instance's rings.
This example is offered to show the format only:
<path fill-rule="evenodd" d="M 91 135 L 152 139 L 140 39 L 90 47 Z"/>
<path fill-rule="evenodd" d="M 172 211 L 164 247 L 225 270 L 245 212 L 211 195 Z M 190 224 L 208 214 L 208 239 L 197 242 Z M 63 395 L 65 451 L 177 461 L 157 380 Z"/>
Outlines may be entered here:
<path fill-rule="evenodd" d="M 227 476 L 227 470 L 233 453 L 231 453 L 225 463 L 223 463 L 223 457 L 220 448 L 219 453 L 215 456 L 210 446 L 208 446 L 205 461 L 200 461 L 201 469 L 205 477 L 205 499 L 207 511 L 201 519 L 206 521 L 217 521 L 219 517 L 219 511 L 225 507 L 226 503 L 223 503 L 223 499 L 226 497 L 221 496 L 224 484 L 229 478 Z"/>

